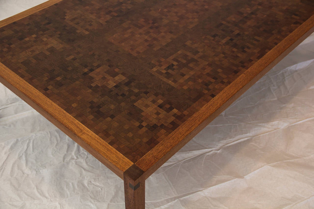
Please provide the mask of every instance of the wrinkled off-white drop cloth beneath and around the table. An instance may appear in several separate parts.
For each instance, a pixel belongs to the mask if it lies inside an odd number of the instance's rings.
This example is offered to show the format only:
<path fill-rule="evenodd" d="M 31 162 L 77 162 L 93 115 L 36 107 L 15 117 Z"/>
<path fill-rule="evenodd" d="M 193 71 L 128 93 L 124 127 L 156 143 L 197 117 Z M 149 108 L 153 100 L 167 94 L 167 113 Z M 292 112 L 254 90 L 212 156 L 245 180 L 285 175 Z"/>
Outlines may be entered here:
<path fill-rule="evenodd" d="M 146 180 L 146 207 L 314 208 L 313 139 L 314 34 Z M 0 182 L 3 209 L 124 208 L 123 181 L 2 84 Z"/>

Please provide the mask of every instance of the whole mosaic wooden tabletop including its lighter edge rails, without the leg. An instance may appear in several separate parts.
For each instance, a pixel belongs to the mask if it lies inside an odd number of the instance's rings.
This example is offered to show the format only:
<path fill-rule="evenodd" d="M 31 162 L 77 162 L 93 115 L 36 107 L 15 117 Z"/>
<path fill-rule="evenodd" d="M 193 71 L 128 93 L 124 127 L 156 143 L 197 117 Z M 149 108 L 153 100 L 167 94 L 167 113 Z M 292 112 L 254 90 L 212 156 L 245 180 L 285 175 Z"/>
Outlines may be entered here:
<path fill-rule="evenodd" d="M 0 21 L 0 81 L 147 177 L 313 32 L 311 0 L 50 0 Z"/>

